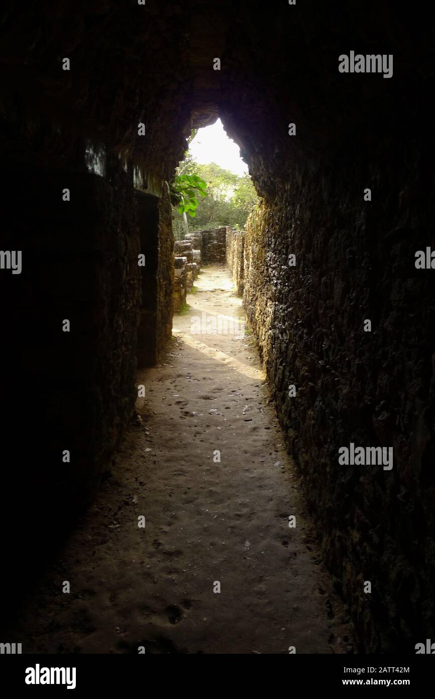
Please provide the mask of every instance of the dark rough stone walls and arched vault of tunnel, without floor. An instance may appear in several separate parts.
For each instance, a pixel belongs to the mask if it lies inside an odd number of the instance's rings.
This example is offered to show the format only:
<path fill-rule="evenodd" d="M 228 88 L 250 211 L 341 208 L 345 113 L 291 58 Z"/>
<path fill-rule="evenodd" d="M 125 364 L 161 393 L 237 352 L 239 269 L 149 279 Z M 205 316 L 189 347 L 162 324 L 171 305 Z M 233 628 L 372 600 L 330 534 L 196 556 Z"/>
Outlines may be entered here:
<path fill-rule="evenodd" d="M 219 116 L 260 197 L 243 303 L 322 561 L 360 653 L 414 652 L 435 633 L 431 23 L 299 0 L 10 0 L 0 21 L 10 608 L 94 503 L 136 372 L 168 349 L 168 183 Z M 392 75 L 341 72 L 353 50 Z M 391 448 L 392 468 L 343 447 Z"/>

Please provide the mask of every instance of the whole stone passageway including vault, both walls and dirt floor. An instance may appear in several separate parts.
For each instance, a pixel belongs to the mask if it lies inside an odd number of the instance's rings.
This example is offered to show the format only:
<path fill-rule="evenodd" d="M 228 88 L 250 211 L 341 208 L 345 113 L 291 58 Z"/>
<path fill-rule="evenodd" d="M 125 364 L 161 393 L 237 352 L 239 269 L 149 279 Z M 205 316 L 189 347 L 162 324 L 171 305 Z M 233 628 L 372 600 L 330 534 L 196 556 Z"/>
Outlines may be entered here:
<path fill-rule="evenodd" d="M 432 30 L 388 2 L 7 3 L 3 642 L 435 641 Z M 259 203 L 183 248 L 170 187 L 218 117 Z"/>

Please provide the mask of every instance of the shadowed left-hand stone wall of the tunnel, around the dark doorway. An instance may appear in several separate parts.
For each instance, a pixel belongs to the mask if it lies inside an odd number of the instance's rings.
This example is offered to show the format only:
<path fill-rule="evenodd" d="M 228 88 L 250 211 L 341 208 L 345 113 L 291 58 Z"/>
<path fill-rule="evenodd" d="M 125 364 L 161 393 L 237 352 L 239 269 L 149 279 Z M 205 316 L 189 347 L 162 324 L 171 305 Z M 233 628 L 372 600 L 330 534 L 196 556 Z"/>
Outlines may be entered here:
<path fill-rule="evenodd" d="M 3 492 L 8 500 L 21 492 L 33 522 L 31 531 L 23 525 L 27 549 L 29 536 L 48 531 L 52 540 L 56 517 L 89 501 L 133 410 L 138 254 L 149 252 L 138 236 L 133 162 L 149 173 L 149 186 L 170 178 L 184 151 L 191 110 L 183 11 L 181 5 L 147 3 L 142 10 L 138 3 L 11 0 L 1 13 L 0 150 L 7 180 L 1 247 L 23 255 L 21 275 L 0 275 L 2 298 L 10 298 L 3 314 L 10 335 L 1 349 L 9 406 L 3 458 L 15 464 Z M 158 45 L 168 48 L 168 36 L 172 50 L 162 52 L 149 80 L 149 64 Z M 62 57 L 70 59 L 69 71 Z M 138 136 L 140 121 L 146 138 Z M 105 154 L 103 178 L 85 167 L 89 144 Z M 62 201 L 64 187 L 69 202 Z M 168 211 L 163 201 L 157 347 L 170 333 Z M 71 332 L 58 333 L 69 317 Z M 36 401 L 31 409 L 17 389 L 23 375 Z M 30 459 L 23 430 L 34 445 Z M 61 460 L 64 449 L 70 463 Z M 11 556 L 19 547 L 12 545 Z"/>

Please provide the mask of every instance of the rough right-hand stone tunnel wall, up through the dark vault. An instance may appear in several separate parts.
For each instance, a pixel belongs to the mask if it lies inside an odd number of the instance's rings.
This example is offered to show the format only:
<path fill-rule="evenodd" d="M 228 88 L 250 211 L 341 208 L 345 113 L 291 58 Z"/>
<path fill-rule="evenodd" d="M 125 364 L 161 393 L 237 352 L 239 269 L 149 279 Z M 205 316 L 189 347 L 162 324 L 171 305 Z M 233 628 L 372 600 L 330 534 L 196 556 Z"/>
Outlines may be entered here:
<path fill-rule="evenodd" d="M 384 3 L 255 16 L 237 3 L 244 82 L 228 69 L 221 110 L 264 199 L 246 233 L 246 312 L 365 651 L 414 652 L 435 633 L 435 300 L 431 271 L 414 267 L 415 250 L 434 249 L 432 23 L 417 8 L 407 20 Z M 394 76 L 340 74 L 339 55 L 356 47 L 394 55 Z M 228 62 L 242 54 L 227 44 Z M 351 441 L 393 446 L 392 471 L 339 467 Z"/>

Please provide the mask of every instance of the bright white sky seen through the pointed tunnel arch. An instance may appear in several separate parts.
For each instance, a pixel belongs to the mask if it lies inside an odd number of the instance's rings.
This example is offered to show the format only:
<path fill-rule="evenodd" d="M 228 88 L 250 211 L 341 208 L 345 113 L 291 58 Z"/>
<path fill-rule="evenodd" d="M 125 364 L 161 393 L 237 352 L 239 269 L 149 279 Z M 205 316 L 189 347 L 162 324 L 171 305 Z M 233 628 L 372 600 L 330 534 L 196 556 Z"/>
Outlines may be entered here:
<path fill-rule="evenodd" d="M 216 163 L 239 176 L 248 172 L 248 166 L 240 157 L 239 146 L 228 138 L 220 119 L 210 127 L 198 129 L 198 134 L 189 145 L 189 152 L 200 165 Z"/>

